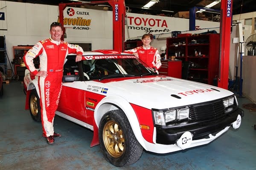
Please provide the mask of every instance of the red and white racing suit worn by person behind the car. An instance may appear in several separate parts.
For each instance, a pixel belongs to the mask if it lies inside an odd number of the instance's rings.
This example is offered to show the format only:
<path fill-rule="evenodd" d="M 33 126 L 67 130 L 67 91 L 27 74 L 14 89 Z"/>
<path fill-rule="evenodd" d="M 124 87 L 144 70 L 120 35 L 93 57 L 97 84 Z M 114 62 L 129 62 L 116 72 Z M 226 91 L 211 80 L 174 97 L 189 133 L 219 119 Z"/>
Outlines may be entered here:
<path fill-rule="evenodd" d="M 124 52 L 130 54 L 137 53 L 139 59 L 145 62 L 150 68 L 155 68 L 155 70 L 158 70 L 161 66 L 161 57 L 157 48 L 140 46 L 131 50 L 125 50 Z"/>

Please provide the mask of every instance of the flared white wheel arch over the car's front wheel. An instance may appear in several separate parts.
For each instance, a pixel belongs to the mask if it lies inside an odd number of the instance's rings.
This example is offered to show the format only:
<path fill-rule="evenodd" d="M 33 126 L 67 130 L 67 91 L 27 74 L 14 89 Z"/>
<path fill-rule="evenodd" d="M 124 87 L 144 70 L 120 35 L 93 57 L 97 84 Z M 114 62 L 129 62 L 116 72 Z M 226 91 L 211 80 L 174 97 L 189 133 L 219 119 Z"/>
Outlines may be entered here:
<path fill-rule="evenodd" d="M 131 107 L 130 103 L 120 96 L 107 96 L 102 99 L 96 106 L 94 111 L 94 120 L 97 127 L 99 128 L 99 122 L 105 113 L 116 109 L 120 109 L 125 113 L 125 116 L 130 122 L 131 128 L 134 132 L 134 135 L 136 136 L 137 141 L 143 148 L 145 148 L 145 140 L 142 136 L 136 113 L 134 112 L 134 109 Z"/>

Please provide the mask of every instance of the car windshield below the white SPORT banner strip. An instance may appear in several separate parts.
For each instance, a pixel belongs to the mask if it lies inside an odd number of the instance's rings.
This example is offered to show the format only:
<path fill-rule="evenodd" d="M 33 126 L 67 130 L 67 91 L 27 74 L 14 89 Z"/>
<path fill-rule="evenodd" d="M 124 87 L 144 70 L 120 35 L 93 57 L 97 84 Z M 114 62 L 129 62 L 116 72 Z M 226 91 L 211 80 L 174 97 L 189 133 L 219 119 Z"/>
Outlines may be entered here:
<path fill-rule="evenodd" d="M 84 77 L 106 79 L 155 74 L 137 58 L 83 60 Z"/>

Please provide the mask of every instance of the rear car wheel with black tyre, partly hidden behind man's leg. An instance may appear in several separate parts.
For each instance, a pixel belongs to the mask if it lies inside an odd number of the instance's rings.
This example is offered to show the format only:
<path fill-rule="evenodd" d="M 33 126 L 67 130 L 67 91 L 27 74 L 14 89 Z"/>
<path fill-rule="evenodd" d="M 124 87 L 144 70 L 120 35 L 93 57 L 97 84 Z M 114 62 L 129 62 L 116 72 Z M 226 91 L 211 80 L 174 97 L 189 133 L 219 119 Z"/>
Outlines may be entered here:
<path fill-rule="evenodd" d="M 35 122 L 41 122 L 40 99 L 35 89 L 32 89 L 29 95 L 29 111 Z"/>

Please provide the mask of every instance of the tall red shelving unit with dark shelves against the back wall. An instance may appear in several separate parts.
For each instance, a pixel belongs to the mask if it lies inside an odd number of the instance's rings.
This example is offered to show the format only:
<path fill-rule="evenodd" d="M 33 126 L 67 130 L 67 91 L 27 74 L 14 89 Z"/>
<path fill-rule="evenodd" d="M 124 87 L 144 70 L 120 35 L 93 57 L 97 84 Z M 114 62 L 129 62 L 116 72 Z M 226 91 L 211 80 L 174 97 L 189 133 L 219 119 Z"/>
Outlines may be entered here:
<path fill-rule="evenodd" d="M 167 38 L 166 56 L 189 65 L 186 79 L 213 85 L 219 68 L 219 34 L 201 34 L 186 37 Z M 189 64 L 188 64 L 189 63 Z"/>

